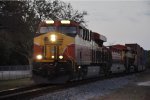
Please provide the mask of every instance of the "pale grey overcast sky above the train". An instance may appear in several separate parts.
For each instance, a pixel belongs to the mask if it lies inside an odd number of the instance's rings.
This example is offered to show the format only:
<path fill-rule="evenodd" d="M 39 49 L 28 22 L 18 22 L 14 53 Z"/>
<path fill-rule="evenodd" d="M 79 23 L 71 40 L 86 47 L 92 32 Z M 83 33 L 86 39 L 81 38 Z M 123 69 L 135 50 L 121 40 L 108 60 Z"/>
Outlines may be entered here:
<path fill-rule="evenodd" d="M 87 11 L 89 29 L 107 37 L 104 45 L 138 43 L 150 50 L 150 0 L 62 0 Z"/>

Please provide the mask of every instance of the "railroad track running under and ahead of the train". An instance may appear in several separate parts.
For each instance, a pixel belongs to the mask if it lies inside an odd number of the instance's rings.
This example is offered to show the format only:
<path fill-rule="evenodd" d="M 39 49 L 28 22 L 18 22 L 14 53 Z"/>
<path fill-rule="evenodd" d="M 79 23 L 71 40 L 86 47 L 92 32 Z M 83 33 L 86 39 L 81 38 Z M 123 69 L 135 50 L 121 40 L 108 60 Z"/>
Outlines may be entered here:
<path fill-rule="evenodd" d="M 67 84 L 59 84 L 59 85 L 39 84 L 39 85 L 32 85 L 32 86 L 23 87 L 23 88 L 9 89 L 9 90 L 0 91 L 0 100 L 20 100 L 20 99 L 29 100 L 31 98 L 34 98 L 36 96 L 40 96 L 46 93 L 61 91 L 66 88 L 76 87 L 79 85 L 92 83 L 98 80 L 123 77 L 125 75 L 126 74 L 113 74 L 107 78 L 102 76 L 102 77 L 86 79 L 82 81 L 69 82 Z M 131 74 L 128 74 L 128 75 L 131 75 Z"/>

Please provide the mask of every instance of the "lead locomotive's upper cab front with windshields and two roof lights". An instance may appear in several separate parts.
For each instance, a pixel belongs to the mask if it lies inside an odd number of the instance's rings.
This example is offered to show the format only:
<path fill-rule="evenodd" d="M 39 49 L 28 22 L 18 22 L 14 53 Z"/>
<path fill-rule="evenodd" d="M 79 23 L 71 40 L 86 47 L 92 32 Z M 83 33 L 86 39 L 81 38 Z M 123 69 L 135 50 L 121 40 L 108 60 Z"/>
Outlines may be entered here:
<path fill-rule="evenodd" d="M 64 35 L 75 37 L 77 34 L 77 26 L 74 22 L 70 22 L 69 20 L 46 20 L 39 25 L 37 35 L 48 32 L 60 32 Z"/>

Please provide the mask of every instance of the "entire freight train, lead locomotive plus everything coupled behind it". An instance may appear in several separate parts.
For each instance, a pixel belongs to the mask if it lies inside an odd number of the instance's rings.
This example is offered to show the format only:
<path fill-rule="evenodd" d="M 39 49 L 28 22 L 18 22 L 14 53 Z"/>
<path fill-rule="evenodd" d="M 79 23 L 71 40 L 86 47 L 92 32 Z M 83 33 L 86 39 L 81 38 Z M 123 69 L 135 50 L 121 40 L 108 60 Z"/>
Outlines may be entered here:
<path fill-rule="evenodd" d="M 71 81 L 145 69 L 146 52 L 138 44 L 104 46 L 106 41 L 74 21 L 43 21 L 34 37 L 33 73 Z"/>

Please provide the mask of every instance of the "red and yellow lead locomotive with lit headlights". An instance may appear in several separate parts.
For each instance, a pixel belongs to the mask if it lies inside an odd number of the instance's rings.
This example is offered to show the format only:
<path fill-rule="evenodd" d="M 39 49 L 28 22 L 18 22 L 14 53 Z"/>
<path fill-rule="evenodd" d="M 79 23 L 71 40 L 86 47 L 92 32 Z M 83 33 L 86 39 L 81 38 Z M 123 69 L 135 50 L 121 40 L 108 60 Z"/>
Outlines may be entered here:
<path fill-rule="evenodd" d="M 33 72 L 65 81 L 105 74 L 111 55 L 103 42 L 105 36 L 74 21 L 41 22 L 34 37 Z"/>

